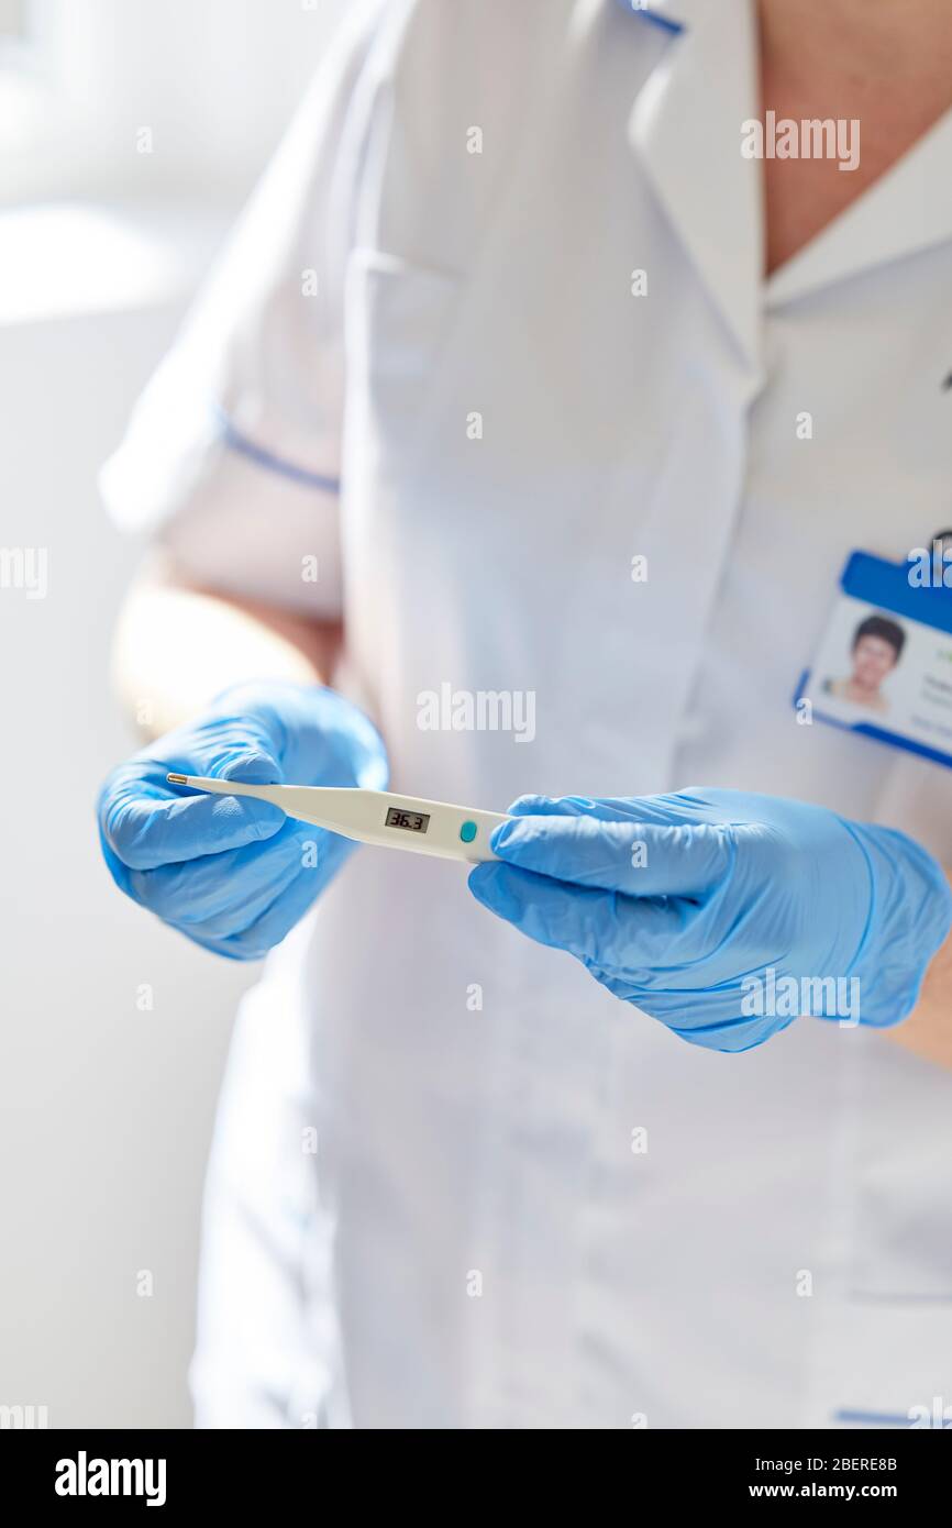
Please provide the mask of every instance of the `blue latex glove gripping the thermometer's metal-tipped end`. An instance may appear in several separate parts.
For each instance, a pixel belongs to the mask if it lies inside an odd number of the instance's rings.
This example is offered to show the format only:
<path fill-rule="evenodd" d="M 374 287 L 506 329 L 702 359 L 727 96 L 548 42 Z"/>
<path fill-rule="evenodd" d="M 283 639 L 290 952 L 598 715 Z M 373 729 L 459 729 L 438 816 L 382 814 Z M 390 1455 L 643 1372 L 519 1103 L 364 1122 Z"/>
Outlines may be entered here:
<path fill-rule="evenodd" d="M 246 796 L 206 796 L 165 776 L 255 784 L 387 785 L 387 755 L 367 717 L 330 689 L 249 683 L 142 749 L 99 793 L 99 837 L 113 880 L 174 929 L 232 960 L 258 960 L 304 915 L 348 839 Z M 315 850 L 316 847 L 316 850 Z"/>

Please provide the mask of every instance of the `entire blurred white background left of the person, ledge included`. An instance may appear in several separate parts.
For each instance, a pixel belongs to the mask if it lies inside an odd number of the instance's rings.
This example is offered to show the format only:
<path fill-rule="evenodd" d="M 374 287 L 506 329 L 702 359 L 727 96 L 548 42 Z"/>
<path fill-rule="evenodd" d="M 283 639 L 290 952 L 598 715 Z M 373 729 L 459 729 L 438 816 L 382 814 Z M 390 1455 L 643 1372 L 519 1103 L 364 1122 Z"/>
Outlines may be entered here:
<path fill-rule="evenodd" d="M 96 471 L 342 9 L 0 0 L 0 549 L 49 556 L 44 599 L 0 584 L 0 1406 L 50 1427 L 191 1423 L 202 1177 L 254 979 L 99 859 L 139 549 Z"/>

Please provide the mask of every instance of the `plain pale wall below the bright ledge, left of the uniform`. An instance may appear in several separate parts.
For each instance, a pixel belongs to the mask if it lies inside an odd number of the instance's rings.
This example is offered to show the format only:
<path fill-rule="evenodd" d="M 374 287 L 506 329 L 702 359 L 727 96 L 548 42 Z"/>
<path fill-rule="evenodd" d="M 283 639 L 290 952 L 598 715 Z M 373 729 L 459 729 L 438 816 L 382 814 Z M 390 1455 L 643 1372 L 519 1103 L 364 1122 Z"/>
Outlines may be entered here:
<path fill-rule="evenodd" d="M 171 327 L 127 313 L 0 345 L 3 544 L 49 549 L 46 599 L 0 591 L 0 1403 L 50 1426 L 188 1426 L 200 1174 L 249 975 L 122 898 L 95 833 L 130 752 L 105 671 L 136 553 L 93 475 Z"/>

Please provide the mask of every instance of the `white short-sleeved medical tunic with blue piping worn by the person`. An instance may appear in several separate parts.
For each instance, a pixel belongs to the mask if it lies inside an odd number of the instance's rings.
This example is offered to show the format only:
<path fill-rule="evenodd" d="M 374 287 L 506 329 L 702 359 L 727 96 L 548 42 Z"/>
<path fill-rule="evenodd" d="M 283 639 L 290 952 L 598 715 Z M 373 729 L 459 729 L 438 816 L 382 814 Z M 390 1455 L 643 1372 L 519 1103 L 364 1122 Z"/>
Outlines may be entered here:
<path fill-rule="evenodd" d="M 764 281 L 755 115 L 747 0 L 358 6 L 107 498 L 342 617 L 396 790 L 730 785 L 949 862 L 947 772 L 792 698 L 850 550 L 952 520 L 952 116 Z M 423 730 L 445 683 L 535 740 Z M 952 1403 L 950 1112 L 882 1034 L 686 1045 L 361 850 L 240 1016 L 199 1421 L 908 1424 Z"/>

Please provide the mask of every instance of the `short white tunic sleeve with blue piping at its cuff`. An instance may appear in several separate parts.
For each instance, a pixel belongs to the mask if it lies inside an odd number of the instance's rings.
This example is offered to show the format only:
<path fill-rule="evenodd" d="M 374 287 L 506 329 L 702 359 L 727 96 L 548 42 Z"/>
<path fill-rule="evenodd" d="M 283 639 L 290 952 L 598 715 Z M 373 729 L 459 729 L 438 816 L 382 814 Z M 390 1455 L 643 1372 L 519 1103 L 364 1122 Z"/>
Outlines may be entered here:
<path fill-rule="evenodd" d="M 355 5 L 332 41 L 101 472 L 113 520 L 188 575 L 319 619 L 341 605 L 344 280 L 384 9 Z"/>

